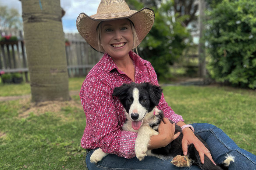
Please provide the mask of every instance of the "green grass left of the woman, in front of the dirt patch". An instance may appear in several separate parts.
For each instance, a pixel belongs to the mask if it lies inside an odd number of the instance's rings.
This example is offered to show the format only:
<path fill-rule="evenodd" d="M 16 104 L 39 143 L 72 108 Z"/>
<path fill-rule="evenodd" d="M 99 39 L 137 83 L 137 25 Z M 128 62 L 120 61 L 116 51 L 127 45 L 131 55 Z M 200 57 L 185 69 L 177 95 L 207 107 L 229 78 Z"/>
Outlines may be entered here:
<path fill-rule="evenodd" d="M 82 107 L 67 105 L 58 112 L 30 112 L 22 118 L 21 103 L 0 102 L 0 169 L 85 169 Z"/>

